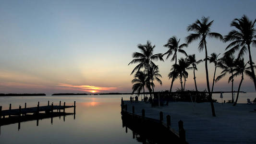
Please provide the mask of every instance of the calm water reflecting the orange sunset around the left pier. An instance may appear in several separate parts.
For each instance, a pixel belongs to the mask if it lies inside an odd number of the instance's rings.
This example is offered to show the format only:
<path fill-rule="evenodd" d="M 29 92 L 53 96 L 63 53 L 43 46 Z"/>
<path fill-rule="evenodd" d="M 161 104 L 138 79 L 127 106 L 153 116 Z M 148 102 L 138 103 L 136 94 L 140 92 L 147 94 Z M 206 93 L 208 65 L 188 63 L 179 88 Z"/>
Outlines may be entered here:
<path fill-rule="evenodd" d="M 76 115 L 55 117 L 51 119 L 26 121 L 3 125 L 0 127 L 0 144 L 135 144 L 139 143 L 133 139 L 133 133 L 122 128 L 121 120 L 121 97 L 128 100 L 131 95 L 88 95 L 88 96 L 7 96 L 0 97 L 0 105 L 4 109 L 36 107 L 47 105 L 48 100 L 55 105 L 59 101 L 66 102 L 66 105 L 73 105 L 76 101 Z M 213 98 L 221 102 L 219 94 L 214 94 Z M 223 100 L 231 99 L 231 93 L 223 94 Z M 246 103 L 246 99 L 253 100 L 256 93 L 240 94 L 238 103 Z M 140 99 L 140 97 L 139 97 Z M 73 112 L 73 108 L 67 108 L 66 112 Z"/>

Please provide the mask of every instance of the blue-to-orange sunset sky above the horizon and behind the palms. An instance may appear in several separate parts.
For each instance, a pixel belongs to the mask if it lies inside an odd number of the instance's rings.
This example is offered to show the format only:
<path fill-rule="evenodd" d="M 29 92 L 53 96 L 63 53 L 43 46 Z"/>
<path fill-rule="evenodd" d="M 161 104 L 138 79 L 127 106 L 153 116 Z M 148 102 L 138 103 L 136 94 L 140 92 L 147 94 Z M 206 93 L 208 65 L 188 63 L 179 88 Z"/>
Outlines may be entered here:
<path fill-rule="evenodd" d="M 184 43 L 188 24 L 202 16 L 214 20 L 212 32 L 224 36 L 234 18 L 245 14 L 254 20 L 255 5 L 255 0 L 0 0 L 0 93 L 130 93 L 136 65 L 128 63 L 138 44 L 150 40 L 154 53 L 165 53 L 168 39 L 177 36 Z M 208 54 L 223 54 L 227 45 L 207 39 Z M 196 41 L 184 50 L 203 59 L 205 51 L 197 47 Z M 256 61 L 256 48 L 251 49 Z M 163 82 L 156 91 L 170 89 L 173 63 L 156 62 Z M 211 85 L 214 64 L 208 69 Z M 204 63 L 196 80 L 199 90 L 207 88 Z M 239 82 L 235 78 L 235 90 Z M 192 71 L 186 89 L 195 89 Z M 225 77 L 214 89 L 231 91 L 231 84 Z M 255 92 L 248 77 L 242 91 Z"/>

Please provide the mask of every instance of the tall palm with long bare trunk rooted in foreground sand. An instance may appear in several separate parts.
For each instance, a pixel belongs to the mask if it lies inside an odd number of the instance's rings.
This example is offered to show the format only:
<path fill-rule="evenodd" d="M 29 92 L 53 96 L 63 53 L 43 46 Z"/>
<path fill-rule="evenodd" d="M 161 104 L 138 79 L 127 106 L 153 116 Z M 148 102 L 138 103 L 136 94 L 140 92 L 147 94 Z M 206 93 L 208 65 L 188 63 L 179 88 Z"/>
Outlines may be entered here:
<path fill-rule="evenodd" d="M 207 67 L 207 46 L 206 46 L 206 37 L 210 38 L 219 38 L 220 40 L 223 39 L 223 37 L 219 33 L 212 33 L 210 32 L 210 26 L 213 24 L 213 21 L 209 22 L 209 17 L 202 17 L 201 21 L 196 20 L 195 23 L 190 24 L 187 27 L 187 31 L 190 32 L 195 32 L 192 34 L 189 34 L 189 36 L 186 37 L 186 42 L 187 44 L 192 43 L 195 40 L 200 40 L 199 42 L 199 52 L 201 52 L 203 49 L 205 49 L 205 67 L 206 67 L 206 82 L 207 82 L 207 89 L 209 93 L 209 99 L 211 103 L 211 110 L 212 110 L 212 116 L 216 116 L 215 110 L 214 110 L 214 105 L 212 102 L 212 97 L 211 97 L 211 91 L 210 91 L 210 85 L 209 85 L 209 76 L 208 76 L 208 67 Z"/>

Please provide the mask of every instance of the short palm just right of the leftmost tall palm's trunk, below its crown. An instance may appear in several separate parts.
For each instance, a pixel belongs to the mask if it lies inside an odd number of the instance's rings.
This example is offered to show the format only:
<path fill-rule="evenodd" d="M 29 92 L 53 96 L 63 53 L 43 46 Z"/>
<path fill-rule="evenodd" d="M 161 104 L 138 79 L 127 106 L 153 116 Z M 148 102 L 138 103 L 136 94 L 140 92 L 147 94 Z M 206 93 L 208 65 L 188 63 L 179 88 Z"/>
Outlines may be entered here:
<path fill-rule="evenodd" d="M 158 70 L 157 65 L 150 65 L 149 66 L 149 77 L 148 78 L 151 80 L 153 93 L 155 93 L 155 91 L 154 91 L 155 84 L 153 83 L 154 80 L 157 80 L 158 83 L 162 85 L 162 81 L 159 79 L 159 77 L 161 78 L 162 76 L 158 72 L 159 72 L 159 70 Z"/>

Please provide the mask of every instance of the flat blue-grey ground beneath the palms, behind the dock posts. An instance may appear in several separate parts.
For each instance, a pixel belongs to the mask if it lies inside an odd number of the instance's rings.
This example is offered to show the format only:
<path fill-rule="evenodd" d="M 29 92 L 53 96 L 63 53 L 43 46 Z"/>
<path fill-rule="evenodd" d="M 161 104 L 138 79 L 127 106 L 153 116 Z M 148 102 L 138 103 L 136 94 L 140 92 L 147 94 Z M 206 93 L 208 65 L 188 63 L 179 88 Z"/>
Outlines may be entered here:
<path fill-rule="evenodd" d="M 211 116 L 210 104 L 197 103 L 196 113 L 193 113 L 193 106 L 188 102 L 173 102 L 169 106 L 151 108 L 150 104 L 133 103 L 124 101 L 127 104 L 127 111 L 135 107 L 135 114 L 141 115 L 145 109 L 146 117 L 159 119 L 159 112 L 162 111 L 164 120 L 166 115 L 171 116 L 171 127 L 178 131 L 179 120 L 183 120 L 186 131 L 186 141 L 189 144 L 256 144 L 256 112 L 253 111 L 256 105 L 215 103 L 217 117 Z"/>

